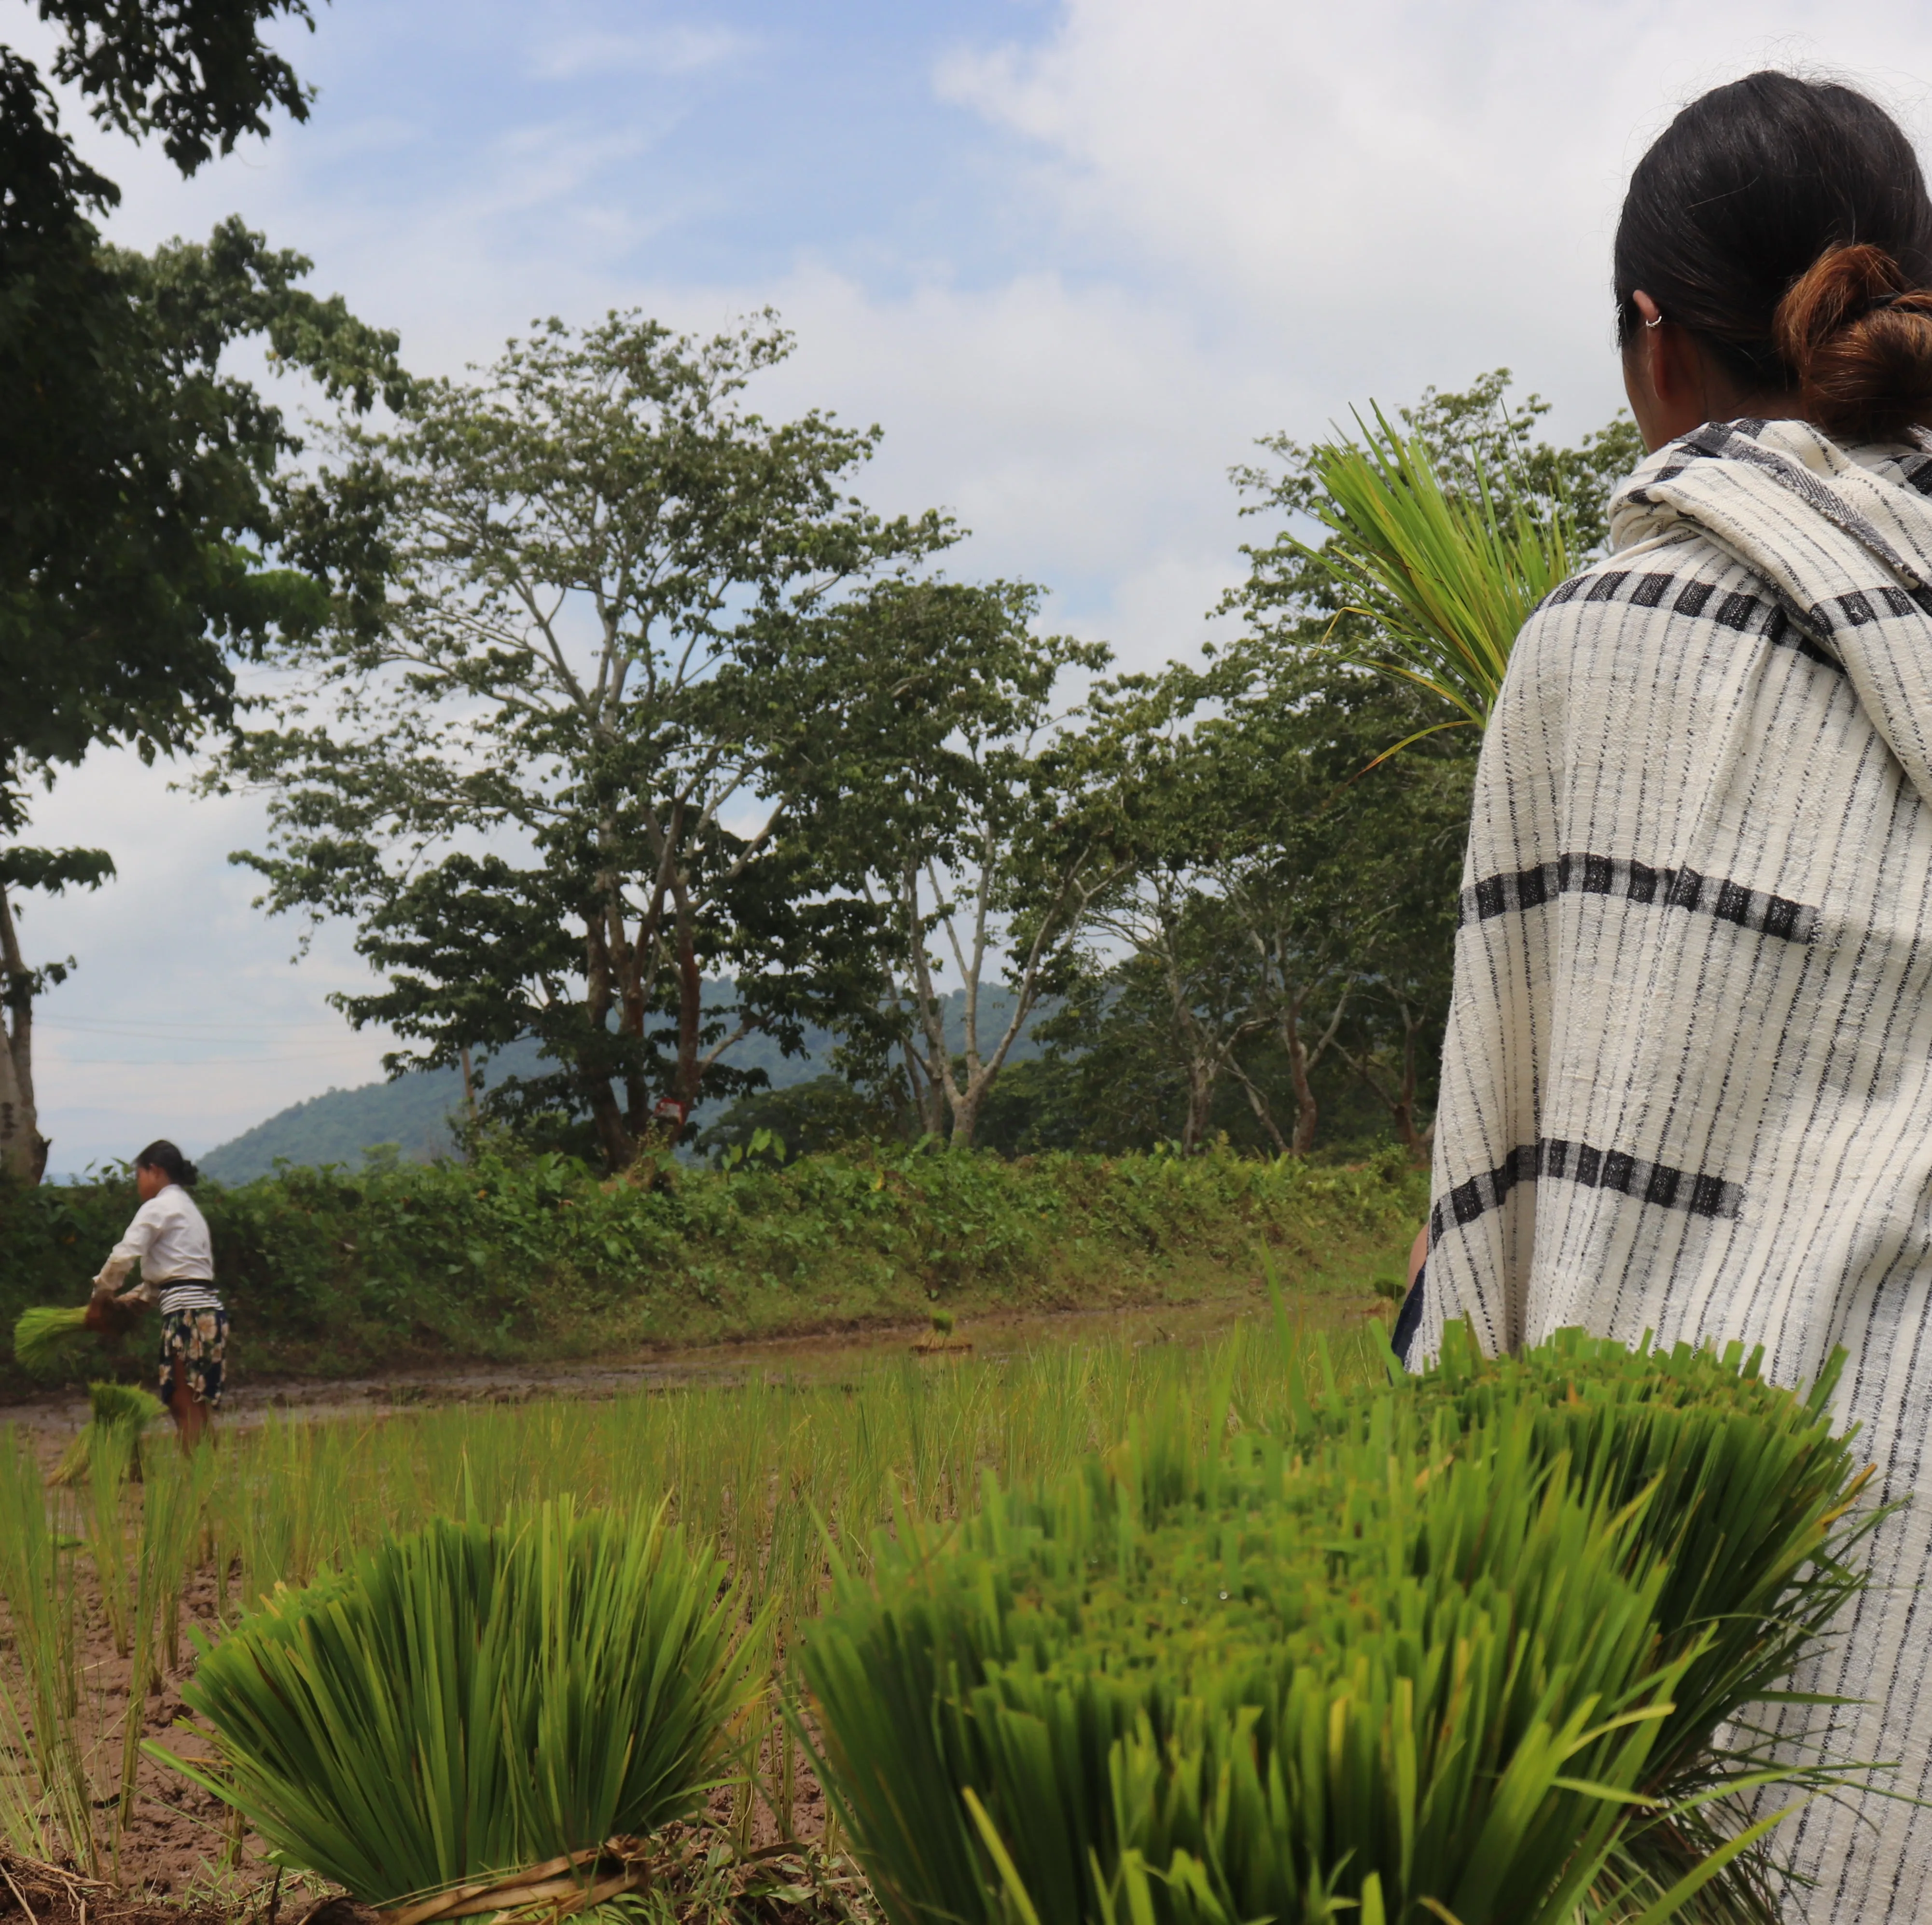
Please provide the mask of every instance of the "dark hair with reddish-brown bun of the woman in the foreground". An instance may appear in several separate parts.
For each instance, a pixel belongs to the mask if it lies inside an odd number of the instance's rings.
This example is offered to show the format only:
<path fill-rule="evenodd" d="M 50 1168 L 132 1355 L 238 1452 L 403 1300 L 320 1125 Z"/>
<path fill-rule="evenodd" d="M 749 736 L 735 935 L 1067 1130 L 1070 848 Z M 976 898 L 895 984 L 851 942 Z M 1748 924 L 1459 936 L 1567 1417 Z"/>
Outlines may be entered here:
<path fill-rule="evenodd" d="M 1615 288 L 1619 346 L 1642 288 L 1828 434 L 1932 421 L 1932 199 L 1899 124 L 1853 87 L 1752 73 L 1692 100 L 1631 176 Z"/>

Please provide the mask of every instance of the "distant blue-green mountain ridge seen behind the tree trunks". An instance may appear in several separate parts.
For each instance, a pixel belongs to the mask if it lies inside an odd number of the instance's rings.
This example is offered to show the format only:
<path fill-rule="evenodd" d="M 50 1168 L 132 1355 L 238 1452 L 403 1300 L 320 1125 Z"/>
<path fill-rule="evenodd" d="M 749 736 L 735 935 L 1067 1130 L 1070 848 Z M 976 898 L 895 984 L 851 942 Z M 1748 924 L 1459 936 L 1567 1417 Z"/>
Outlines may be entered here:
<path fill-rule="evenodd" d="M 730 985 L 717 987 L 728 990 Z M 1005 1027 L 1010 1008 L 1005 990 L 980 992 L 981 1039 L 987 1031 L 997 1035 Z M 954 1046 L 964 1035 L 964 990 L 954 990 L 947 998 L 947 1033 Z M 790 1089 L 825 1074 L 835 1041 L 829 1031 L 808 1029 L 806 1054 L 784 1056 L 771 1037 L 746 1037 L 730 1052 L 730 1062 L 742 1070 L 763 1070 L 773 1089 Z M 1039 1046 L 1022 1035 L 1009 1060 L 1037 1054 Z M 535 1043 L 516 1043 L 483 1066 L 483 1075 L 497 1081 L 504 1075 L 537 1075 L 545 1068 Z M 363 1153 L 379 1143 L 394 1143 L 410 1162 L 433 1162 L 454 1147 L 450 1116 L 462 1108 L 462 1101 L 464 1079 L 456 1070 L 412 1070 L 388 1083 L 330 1089 L 218 1143 L 201 1158 L 201 1170 L 220 1184 L 247 1184 L 272 1174 L 276 1162 L 357 1166 Z M 715 1122 L 724 1108 L 724 1102 L 699 1104 L 696 1120 Z"/>

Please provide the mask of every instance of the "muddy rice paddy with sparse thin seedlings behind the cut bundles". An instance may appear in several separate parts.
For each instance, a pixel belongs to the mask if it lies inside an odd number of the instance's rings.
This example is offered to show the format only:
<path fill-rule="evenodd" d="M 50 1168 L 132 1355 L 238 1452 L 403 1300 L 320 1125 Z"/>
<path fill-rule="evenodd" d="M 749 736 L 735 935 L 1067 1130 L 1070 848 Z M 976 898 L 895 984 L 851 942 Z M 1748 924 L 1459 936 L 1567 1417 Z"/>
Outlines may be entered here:
<path fill-rule="evenodd" d="M 779 1709 L 829 1556 L 864 1564 L 895 1516 L 956 1516 L 987 1471 L 1049 1473 L 1208 1377 L 1238 1411 L 1279 1377 L 1283 1344 L 1320 1334 L 1333 1367 L 1372 1369 L 1370 1326 L 1387 1311 L 1385 1296 L 1329 1288 L 1277 1317 L 1250 1292 L 983 1319 L 949 1338 L 900 1328 L 595 1369 L 242 1384 L 193 1465 L 164 1427 L 120 1458 L 91 1450 L 71 1388 L 4 1406 L 0 1919 L 296 1925 L 332 1894 L 278 1877 L 261 1840 L 158 1755 L 211 1755 L 182 1701 L 197 1639 L 383 1533 L 558 1494 L 663 1504 L 769 1608 L 771 1691 L 742 1734 L 740 1782 L 713 1796 L 707 1825 L 663 1842 L 686 1886 L 674 1915 L 869 1917 Z"/>

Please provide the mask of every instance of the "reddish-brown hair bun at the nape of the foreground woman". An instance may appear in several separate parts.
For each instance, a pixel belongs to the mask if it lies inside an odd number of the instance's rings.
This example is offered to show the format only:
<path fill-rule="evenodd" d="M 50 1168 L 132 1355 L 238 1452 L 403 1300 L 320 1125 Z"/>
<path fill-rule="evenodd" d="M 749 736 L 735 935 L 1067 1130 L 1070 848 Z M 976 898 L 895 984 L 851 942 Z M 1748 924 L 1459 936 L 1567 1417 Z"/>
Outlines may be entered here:
<path fill-rule="evenodd" d="M 1932 421 L 1932 288 L 1882 247 L 1828 247 L 1777 303 L 1774 340 L 1804 419 L 1833 440 L 1899 440 Z"/>

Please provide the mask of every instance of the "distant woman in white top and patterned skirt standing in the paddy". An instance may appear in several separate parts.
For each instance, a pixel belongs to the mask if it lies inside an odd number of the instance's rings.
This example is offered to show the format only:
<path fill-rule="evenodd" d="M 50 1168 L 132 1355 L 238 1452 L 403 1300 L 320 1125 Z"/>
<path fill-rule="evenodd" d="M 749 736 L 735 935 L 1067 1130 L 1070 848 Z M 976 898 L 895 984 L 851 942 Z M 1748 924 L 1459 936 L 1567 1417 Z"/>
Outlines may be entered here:
<path fill-rule="evenodd" d="M 95 1297 L 160 1305 L 160 1396 L 191 1450 L 222 1400 L 228 1311 L 214 1290 L 214 1245 L 195 1199 L 195 1166 L 166 1139 L 133 1160 L 141 1209 L 95 1278 Z M 120 1286 L 141 1265 L 141 1282 Z"/>

